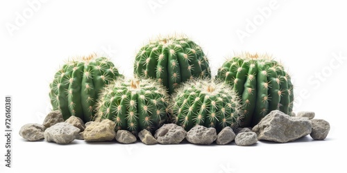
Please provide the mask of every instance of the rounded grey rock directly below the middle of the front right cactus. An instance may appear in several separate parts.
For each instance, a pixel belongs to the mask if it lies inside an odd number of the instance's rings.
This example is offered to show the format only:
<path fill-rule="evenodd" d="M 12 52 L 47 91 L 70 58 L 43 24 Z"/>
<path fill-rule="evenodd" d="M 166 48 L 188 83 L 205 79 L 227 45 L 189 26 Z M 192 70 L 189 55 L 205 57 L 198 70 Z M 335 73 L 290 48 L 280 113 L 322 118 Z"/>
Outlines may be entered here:
<path fill-rule="evenodd" d="M 210 145 L 217 139 L 216 129 L 196 125 L 187 132 L 185 137 L 189 143 Z"/>

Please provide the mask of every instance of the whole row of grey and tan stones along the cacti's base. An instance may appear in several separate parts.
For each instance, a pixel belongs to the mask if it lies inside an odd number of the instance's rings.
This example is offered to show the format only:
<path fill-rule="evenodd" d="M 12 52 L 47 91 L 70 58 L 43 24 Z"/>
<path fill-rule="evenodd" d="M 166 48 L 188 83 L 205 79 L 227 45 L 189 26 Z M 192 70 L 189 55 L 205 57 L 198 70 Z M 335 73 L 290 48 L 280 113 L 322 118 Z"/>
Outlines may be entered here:
<path fill-rule="evenodd" d="M 135 143 L 137 138 L 146 145 L 178 144 L 183 140 L 198 145 L 226 145 L 235 140 L 239 146 L 255 145 L 258 140 L 287 143 L 303 136 L 314 140 L 324 140 L 328 136 L 329 122 L 314 119 L 314 112 L 298 112 L 288 116 L 281 111 L 271 111 L 253 128 L 223 128 L 218 134 L 216 129 L 196 125 L 189 131 L 176 124 L 165 124 L 155 131 L 154 136 L 146 129 L 139 131 L 137 136 L 126 130 L 115 131 L 115 122 L 105 119 L 101 122 L 87 122 L 75 116 L 65 120 L 59 111 L 49 113 L 42 125 L 26 124 L 19 134 L 26 140 L 41 140 L 58 144 L 68 144 L 73 140 L 86 142 L 103 142 L 117 140 L 119 143 Z"/>

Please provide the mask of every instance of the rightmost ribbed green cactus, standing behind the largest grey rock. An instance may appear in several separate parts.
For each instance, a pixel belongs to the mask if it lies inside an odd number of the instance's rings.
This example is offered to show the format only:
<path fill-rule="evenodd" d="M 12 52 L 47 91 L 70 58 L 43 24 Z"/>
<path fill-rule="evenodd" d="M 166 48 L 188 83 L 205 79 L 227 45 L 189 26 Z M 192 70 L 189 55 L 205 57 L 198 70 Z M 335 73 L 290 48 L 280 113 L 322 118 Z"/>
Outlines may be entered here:
<path fill-rule="evenodd" d="M 253 127 L 270 111 L 291 115 L 293 85 L 284 67 L 269 55 L 243 53 L 224 62 L 216 79 L 226 82 L 242 98 L 242 127 Z"/>

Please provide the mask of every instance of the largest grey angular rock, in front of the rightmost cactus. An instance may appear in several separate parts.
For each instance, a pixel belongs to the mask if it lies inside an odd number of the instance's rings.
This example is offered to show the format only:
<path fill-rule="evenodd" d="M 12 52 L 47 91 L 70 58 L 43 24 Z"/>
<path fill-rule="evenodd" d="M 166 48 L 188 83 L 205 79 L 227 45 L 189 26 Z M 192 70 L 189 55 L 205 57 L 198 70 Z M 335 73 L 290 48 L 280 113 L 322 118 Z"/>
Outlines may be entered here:
<path fill-rule="evenodd" d="M 307 118 L 291 117 L 281 111 L 271 111 L 253 127 L 258 140 L 287 143 L 308 134 L 312 126 Z"/>

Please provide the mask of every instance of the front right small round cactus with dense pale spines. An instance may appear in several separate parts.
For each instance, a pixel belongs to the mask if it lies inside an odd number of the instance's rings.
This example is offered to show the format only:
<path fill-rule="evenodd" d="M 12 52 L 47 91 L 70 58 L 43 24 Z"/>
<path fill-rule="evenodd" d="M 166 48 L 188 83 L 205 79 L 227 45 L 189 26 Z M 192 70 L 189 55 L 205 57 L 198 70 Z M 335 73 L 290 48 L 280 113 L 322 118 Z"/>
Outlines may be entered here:
<path fill-rule="evenodd" d="M 187 82 L 173 96 L 172 121 L 189 131 L 195 125 L 237 127 L 242 119 L 239 98 L 228 84 L 211 80 Z"/>

